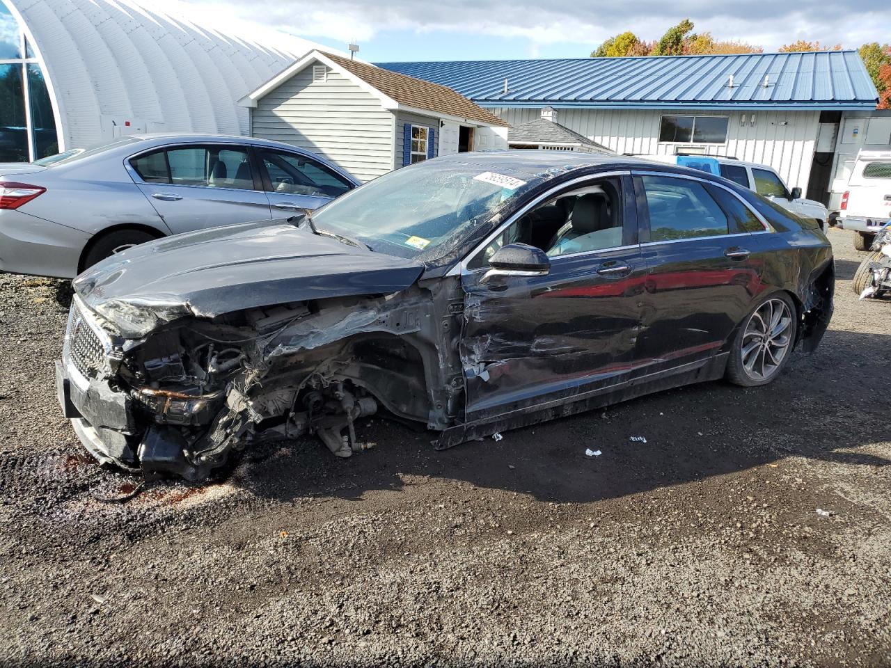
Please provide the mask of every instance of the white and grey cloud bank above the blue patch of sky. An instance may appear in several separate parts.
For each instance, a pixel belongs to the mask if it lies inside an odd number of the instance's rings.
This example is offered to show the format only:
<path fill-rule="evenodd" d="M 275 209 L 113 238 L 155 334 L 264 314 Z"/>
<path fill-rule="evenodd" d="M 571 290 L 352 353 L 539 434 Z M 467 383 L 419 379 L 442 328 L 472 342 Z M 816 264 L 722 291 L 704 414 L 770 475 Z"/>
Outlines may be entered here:
<path fill-rule="evenodd" d="M 776 0 L 636 0 L 634 4 L 551 0 L 544 6 L 540 0 L 438 0 L 424 4 L 415 0 L 328 0 L 321 5 L 323 9 L 317 0 L 252 0 L 249 4 L 158 0 L 158 4 L 165 9 L 178 6 L 186 12 L 200 12 L 203 20 L 211 13 L 218 21 L 261 21 L 302 37 L 343 42 L 354 38 L 369 41 L 385 30 L 521 37 L 528 40 L 532 53 L 537 53 L 538 45 L 560 42 L 597 45 L 627 29 L 642 39 L 658 39 L 684 17 L 694 21 L 697 31 L 709 31 L 719 39 L 741 39 L 767 50 L 798 38 L 855 47 L 864 41 L 887 40 L 883 28 L 891 25 L 891 4 L 879 0 L 794 4 Z"/>

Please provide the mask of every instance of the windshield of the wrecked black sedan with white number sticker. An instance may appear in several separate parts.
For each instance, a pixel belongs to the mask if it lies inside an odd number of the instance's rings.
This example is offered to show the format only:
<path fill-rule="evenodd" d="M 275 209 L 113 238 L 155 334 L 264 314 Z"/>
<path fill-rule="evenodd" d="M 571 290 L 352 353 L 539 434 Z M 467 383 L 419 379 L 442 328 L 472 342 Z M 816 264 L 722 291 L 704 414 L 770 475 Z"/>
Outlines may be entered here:
<path fill-rule="evenodd" d="M 541 175 L 457 159 L 404 167 L 316 210 L 316 229 L 362 241 L 372 250 L 427 259 L 454 246 Z"/>

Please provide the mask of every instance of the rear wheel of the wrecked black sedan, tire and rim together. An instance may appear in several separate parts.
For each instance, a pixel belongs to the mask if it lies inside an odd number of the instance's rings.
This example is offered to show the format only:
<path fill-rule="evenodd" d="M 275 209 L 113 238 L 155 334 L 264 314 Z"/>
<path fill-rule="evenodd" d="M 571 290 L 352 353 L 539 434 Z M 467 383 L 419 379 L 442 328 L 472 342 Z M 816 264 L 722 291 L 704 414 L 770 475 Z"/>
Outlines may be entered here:
<path fill-rule="evenodd" d="M 733 339 L 727 379 L 735 385 L 756 387 L 779 376 L 795 344 L 795 313 L 795 305 L 784 294 L 757 305 Z"/>

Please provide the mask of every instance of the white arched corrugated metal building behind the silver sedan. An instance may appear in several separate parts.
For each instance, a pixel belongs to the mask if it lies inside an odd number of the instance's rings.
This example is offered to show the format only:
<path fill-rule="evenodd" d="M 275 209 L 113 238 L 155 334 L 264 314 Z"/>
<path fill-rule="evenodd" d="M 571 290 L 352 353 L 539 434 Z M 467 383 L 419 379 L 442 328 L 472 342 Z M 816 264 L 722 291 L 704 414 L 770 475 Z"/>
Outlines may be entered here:
<path fill-rule="evenodd" d="M 247 134 L 238 100 L 316 45 L 245 29 L 151 0 L 0 0 L 0 161 L 136 132 Z"/>

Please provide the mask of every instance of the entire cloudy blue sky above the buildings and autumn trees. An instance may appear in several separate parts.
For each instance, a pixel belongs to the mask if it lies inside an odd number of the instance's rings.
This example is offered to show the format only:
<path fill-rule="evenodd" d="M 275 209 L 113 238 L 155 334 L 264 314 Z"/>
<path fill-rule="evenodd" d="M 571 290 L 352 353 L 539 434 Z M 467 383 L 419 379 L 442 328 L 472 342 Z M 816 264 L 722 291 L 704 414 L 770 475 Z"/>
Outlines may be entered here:
<path fill-rule="evenodd" d="M 891 2 L 708 2 L 707 0 L 157 0 L 155 6 L 214 17 L 221 27 L 254 21 L 345 49 L 367 61 L 587 56 L 625 30 L 646 40 L 689 17 L 697 32 L 772 51 L 802 38 L 853 48 L 891 41 Z"/>

